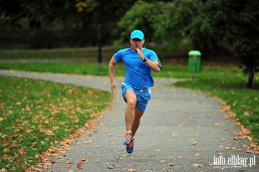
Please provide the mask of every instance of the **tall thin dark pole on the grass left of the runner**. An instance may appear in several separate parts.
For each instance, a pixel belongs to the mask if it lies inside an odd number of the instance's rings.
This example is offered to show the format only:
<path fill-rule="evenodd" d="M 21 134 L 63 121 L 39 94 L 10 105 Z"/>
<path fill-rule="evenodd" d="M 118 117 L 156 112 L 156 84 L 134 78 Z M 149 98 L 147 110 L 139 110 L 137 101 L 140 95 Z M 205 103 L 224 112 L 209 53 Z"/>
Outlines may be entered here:
<path fill-rule="evenodd" d="M 98 14 L 98 68 L 102 70 L 102 0 L 99 0 Z"/>

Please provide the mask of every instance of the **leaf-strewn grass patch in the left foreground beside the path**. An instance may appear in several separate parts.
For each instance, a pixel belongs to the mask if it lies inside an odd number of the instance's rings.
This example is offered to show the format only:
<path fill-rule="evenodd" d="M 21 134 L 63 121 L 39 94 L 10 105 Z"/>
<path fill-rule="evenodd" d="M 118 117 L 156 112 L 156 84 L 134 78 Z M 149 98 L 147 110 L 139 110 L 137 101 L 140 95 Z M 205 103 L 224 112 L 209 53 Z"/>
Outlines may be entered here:
<path fill-rule="evenodd" d="M 40 155 L 87 123 L 110 94 L 71 84 L 0 76 L 0 164 L 24 171 Z"/>

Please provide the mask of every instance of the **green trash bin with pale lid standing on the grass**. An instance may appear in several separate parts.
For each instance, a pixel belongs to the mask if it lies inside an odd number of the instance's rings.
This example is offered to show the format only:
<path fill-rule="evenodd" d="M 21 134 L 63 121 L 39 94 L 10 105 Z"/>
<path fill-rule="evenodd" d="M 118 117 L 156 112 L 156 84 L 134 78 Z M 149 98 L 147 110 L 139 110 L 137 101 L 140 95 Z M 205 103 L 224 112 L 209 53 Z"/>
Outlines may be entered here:
<path fill-rule="evenodd" d="M 200 71 L 201 69 L 201 52 L 192 50 L 188 53 L 188 66 L 189 71 L 193 72 L 195 68 L 195 72 Z"/>

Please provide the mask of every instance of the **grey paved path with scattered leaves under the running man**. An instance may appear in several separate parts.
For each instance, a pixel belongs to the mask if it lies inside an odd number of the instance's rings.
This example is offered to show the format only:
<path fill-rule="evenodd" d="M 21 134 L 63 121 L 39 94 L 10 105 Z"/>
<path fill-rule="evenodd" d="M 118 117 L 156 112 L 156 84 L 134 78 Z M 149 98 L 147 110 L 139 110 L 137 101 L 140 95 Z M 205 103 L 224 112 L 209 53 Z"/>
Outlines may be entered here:
<path fill-rule="evenodd" d="M 107 76 L 10 70 L 0 70 L 0 75 L 52 80 L 110 92 L 110 80 Z M 86 132 L 77 142 L 72 143 L 72 149 L 65 153 L 68 156 L 63 159 L 53 158 L 58 163 L 52 164 L 51 169 L 46 171 L 259 171 L 257 162 L 250 165 L 259 160 L 258 155 L 245 153 L 245 145 L 249 145 L 247 140 L 232 139 L 236 137 L 233 132 L 238 128 L 230 119 L 222 119 L 226 113 L 220 111 L 220 102 L 202 92 L 171 87 L 169 84 L 177 80 L 167 78 L 155 78 L 151 100 L 135 136 L 134 152 L 127 154 L 122 145 L 126 107 L 120 88 L 123 78 L 115 76 L 115 81 L 117 89 L 114 103 L 110 112 L 102 114 L 104 118 L 97 119 L 100 121 L 98 129 L 89 131 L 92 136 Z M 94 142 L 77 144 L 89 140 Z M 193 142 L 197 144 L 192 145 Z M 219 153 L 223 154 L 221 158 Z M 241 165 L 234 165 L 234 156 L 243 158 L 242 161 L 239 160 Z M 216 158 L 220 158 L 217 160 L 223 165 L 213 165 Z M 81 159 L 87 159 L 88 162 L 84 162 L 82 168 L 78 169 L 76 167 Z M 66 168 L 66 165 L 72 167 Z"/>

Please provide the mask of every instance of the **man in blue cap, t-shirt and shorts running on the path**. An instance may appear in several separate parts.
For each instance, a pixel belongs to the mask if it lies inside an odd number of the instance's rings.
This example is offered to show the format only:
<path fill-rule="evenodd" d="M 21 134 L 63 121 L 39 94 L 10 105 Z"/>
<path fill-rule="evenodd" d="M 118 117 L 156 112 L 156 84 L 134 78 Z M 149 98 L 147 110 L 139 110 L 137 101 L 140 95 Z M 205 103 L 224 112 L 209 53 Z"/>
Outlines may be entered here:
<path fill-rule="evenodd" d="M 109 63 L 112 94 L 116 87 L 115 65 L 121 61 L 125 63 L 125 81 L 121 84 L 122 96 L 127 103 L 125 110 L 126 134 L 124 134 L 123 145 L 126 145 L 126 151 L 129 154 L 133 152 L 134 136 L 148 100 L 151 98 L 150 87 L 154 86 L 151 70 L 159 72 L 162 67 L 156 53 L 143 47 L 144 42 L 143 32 L 134 30 L 130 35 L 132 47 L 119 50 Z"/>

